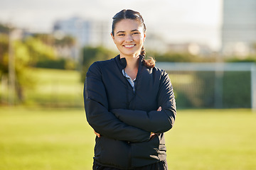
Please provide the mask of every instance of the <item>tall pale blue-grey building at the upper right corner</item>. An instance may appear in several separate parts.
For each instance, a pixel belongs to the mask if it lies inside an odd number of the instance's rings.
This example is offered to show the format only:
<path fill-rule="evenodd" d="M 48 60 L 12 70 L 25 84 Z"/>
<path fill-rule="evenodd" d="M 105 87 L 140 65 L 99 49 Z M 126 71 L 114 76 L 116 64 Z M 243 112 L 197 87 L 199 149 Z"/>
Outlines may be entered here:
<path fill-rule="evenodd" d="M 255 53 L 256 1 L 223 0 L 223 55 Z"/>

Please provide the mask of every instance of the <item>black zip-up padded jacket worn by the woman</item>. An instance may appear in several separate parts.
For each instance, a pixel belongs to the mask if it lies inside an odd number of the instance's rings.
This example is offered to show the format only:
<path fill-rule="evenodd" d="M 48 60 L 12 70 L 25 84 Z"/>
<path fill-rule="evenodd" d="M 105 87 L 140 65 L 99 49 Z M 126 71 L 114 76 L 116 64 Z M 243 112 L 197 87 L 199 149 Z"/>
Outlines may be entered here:
<path fill-rule="evenodd" d="M 94 161 L 132 169 L 166 159 L 164 132 L 174 125 L 176 104 L 168 74 L 139 58 L 135 92 L 122 74 L 125 58 L 93 63 L 85 80 L 88 123 L 96 137 Z M 156 111 L 161 106 L 161 111 Z M 150 133 L 157 135 L 149 139 Z"/>

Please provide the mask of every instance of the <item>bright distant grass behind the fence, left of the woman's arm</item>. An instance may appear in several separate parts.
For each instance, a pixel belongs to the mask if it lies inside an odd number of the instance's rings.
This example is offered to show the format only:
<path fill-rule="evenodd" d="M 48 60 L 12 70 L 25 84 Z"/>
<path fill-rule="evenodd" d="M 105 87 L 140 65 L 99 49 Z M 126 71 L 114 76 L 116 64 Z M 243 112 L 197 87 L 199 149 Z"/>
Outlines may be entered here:
<path fill-rule="evenodd" d="M 80 108 L 83 106 L 83 82 L 80 72 L 62 69 L 33 69 L 29 74 L 32 86 L 24 88 L 26 106 Z M 0 103 L 8 103 L 8 87 L 0 82 Z"/>

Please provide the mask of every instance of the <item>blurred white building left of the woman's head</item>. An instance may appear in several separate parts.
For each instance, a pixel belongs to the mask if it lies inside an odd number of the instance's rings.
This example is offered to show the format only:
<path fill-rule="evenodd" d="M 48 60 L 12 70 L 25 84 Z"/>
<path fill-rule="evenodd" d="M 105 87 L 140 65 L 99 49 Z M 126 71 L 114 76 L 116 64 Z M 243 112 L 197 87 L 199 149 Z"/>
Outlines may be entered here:
<path fill-rule="evenodd" d="M 110 31 L 110 23 L 108 22 L 86 20 L 80 17 L 55 21 L 53 25 L 53 33 L 56 38 L 61 38 L 63 35 L 72 35 L 75 38 L 77 41 L 76 52 L 72 53 L 75 55 L 73 57 L 76 59 L 79 58 L 79 50 L 81 47 L 111 47 L 113 42 Z"/>

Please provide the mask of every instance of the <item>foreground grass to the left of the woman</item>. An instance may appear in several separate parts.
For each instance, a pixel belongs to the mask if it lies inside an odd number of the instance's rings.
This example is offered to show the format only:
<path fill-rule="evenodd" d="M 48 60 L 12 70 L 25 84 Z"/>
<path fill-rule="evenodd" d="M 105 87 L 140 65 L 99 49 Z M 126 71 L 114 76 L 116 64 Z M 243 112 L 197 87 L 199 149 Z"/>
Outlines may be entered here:
<path fill-rule="evenodd" d="M 0 169 L 90 169 L 93 136 L 82 110 L 1 108 Z"/>

